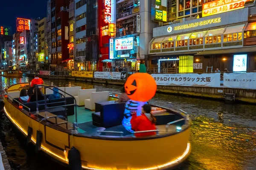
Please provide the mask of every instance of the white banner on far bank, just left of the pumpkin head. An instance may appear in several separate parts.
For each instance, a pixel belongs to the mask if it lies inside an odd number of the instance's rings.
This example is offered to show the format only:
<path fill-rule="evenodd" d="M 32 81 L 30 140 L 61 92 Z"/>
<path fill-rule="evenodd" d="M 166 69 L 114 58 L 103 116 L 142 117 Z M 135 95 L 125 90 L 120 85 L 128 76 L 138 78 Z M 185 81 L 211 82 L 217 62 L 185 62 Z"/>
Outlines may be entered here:
<path fill-rule="evenodd" d="M 126 72 L 94 72 L 94 78 L 97 79 L 126 79 Z"/>

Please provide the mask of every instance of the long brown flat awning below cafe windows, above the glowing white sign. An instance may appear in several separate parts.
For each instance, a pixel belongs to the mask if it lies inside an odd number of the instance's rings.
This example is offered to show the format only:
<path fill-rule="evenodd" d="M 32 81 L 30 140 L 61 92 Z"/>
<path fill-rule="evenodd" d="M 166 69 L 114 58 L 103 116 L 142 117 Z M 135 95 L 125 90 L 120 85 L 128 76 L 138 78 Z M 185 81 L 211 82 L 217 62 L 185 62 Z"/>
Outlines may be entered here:
<path fill-rule="evenodd" d="M 195 56 L 212 55 L 212 54 L 228 54 L 228 53 L 244 53 L 244 52 L 254 52 L 254 51 L 256 51 L 256 47 L 228 48 L 228 49 L 220 49 L 220 50 L 201 51 L 198 54 L 195 54 Z"/>

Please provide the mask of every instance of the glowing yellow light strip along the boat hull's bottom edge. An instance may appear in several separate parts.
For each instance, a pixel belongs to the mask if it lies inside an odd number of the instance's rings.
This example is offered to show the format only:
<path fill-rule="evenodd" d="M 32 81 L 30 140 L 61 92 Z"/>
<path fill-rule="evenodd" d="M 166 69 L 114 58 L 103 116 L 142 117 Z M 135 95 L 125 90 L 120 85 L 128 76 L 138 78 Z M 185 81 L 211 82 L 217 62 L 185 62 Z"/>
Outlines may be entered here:
<path fill-rule="evenodd" d="M 9 119 L 10 119 L 24 134 L 26 134 L 26 136 L 27 136 L 28 134 L 26 133 L 26 131 L 25 131 L 22 127 L 20 127 L 20 125 L 18 125 L 18 124 L 15 122 L 15 120 L 12 119 L 12 117 L 11 117 L 11 116 L 9 115 L 9 113 L 6 111 L 6 107 L 4 107 L 4 111 L 6 112 L 6 115 L 9 117 Z M 31 140 L 32 140 L 32 142 L 36 143 L 36 142 L 35 142 L 35 139 L 33 139 L 32 137 L 31 137 Z M 41 149 L 44 150 L 45 152 L 50 153 L 50 154 L 52 154 L 52 155 L 58 157 L 59 159 L 61 159 L 61 160 L 63 160 L 63 161 L 65 161 L 65 162 L 68 163 L 67 158 L 63 158 L 63 157 L 61 157 L 61 156 L 58 156 L 57 154 L 53 153 L 52 151 L 50 151 L 50 150 L 47 149 L 46 147 L 41 146 Z M 176 164 L 177 162 L 179 162 L 180 160 L 182 160 L 182 159 L 189 153 L 189 150 L 190 150 L 190 143 L 187 144 L 187 148 L 186 148 L 186 150 L 184 151 L 184 153 L 183 153 L 180 157 L 178 157 L 177 159 L 175 159 L 174 161 L 170 161 L 170 162 L 168 162 L 168 163 L 166 163 L 166 164 L 162 164 L 162 165 L 157 165 L 157 166 L 155 166 L 155 167 L 149 167 L 149 168 L 143 168 L 143 169 L 137 169 L 137 170 L 157 170 L 157 169 L 161 169 L 161 168 L 168 167 L 168 166 L 170 166 L 170 165 Z M 66 152 L 66 150 L 65 150 L 64 152 Z M 65 153 L 64 153 L 64 154 L 65 154 Z M 67 153 L 66 153 L 66 154 L 67 154 Z M 82 166 L 82 168 L 87 169 L 87 170 L 112 170 L 112 168 L 105 169 L 105 168 L 93 168 L 93 167 L 86 167 L 86 166 Z"/>

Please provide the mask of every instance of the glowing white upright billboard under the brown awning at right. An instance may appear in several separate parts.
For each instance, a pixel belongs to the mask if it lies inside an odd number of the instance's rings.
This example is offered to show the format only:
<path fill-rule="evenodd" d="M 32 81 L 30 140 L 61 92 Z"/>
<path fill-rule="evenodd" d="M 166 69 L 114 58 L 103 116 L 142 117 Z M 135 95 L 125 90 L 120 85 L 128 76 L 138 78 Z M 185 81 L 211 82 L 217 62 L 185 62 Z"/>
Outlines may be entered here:
<path fill-rule="evenodd" d="M 247 54 L 234 55 L 233 71 L 247 71 Z"/>

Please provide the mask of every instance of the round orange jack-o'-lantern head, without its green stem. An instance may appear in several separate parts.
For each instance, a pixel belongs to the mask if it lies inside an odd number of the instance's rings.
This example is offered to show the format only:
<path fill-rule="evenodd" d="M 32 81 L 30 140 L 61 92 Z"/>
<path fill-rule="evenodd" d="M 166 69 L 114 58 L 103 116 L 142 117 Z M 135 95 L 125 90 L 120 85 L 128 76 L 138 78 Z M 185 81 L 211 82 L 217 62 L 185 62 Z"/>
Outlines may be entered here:
<path fill-rule="evenodd" d="M 147 73 L 136 73 L 128 77 L 125 82 L 125 92 L 131 100 L 147 102 L 157 91 L 154 78 Z"/>

